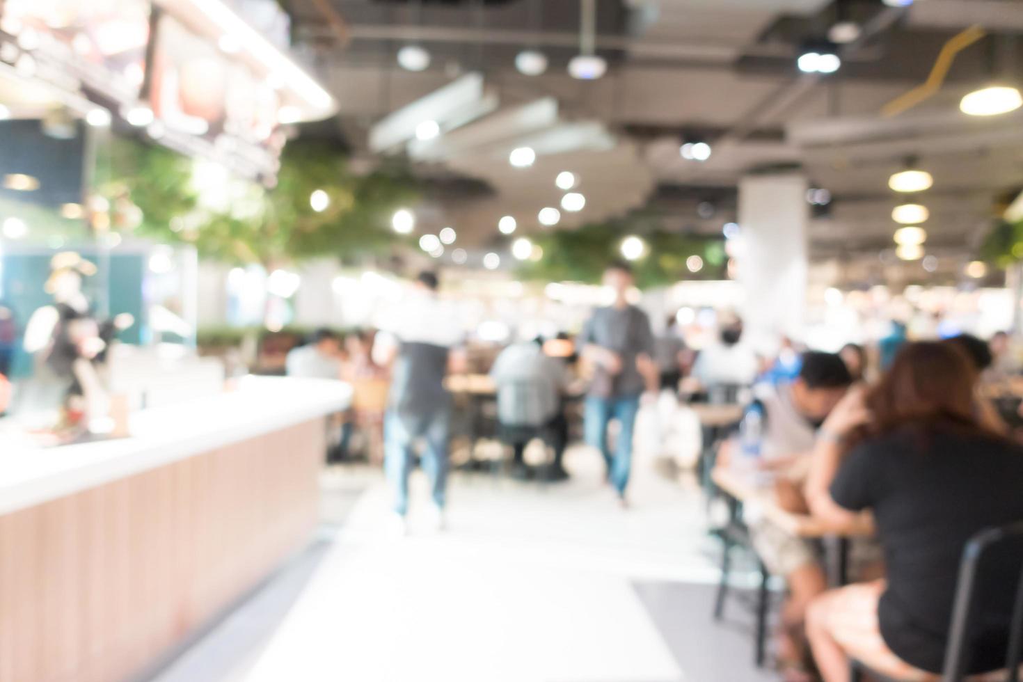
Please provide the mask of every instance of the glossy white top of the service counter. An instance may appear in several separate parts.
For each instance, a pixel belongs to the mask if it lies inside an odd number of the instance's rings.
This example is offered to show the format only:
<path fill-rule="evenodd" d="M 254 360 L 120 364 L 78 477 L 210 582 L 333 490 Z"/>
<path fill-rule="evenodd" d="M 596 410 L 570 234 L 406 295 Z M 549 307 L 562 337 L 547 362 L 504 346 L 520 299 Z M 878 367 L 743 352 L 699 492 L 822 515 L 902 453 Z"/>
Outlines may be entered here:
<path fill-rule="evenodd" d="M 56 448 L 0 440 L 0 514 L 347 409 L 351 395 L 340 381 L 244 377 L 236 391 L 132 415 L 131 438 Z"/>

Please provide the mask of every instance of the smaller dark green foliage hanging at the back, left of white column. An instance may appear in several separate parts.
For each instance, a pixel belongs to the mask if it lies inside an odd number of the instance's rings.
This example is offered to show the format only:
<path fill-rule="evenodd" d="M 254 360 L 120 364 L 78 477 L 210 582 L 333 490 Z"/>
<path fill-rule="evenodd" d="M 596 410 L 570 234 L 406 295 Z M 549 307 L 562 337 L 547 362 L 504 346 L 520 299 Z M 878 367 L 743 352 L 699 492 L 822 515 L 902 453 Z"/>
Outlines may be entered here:
<path fill-rule="evenodd" d="M 522 275 L 541 281 L 597 283 L 608 263 L 621 260 L 622 240 L 631 234 L 626 224 L 596 223 L 577 230 L 555 230 L 537 238 L 542 260 L 529 263 Z M 720 240 L 687 236 L 666 230 L 641 234 L 647 255 L 633 263 L 636 284 L 651 288 L 681 279 L 720 278 L 727 261 Z M 691 256 L 704 260 L 704 269 L 694 275 L 685 266 Z"/>

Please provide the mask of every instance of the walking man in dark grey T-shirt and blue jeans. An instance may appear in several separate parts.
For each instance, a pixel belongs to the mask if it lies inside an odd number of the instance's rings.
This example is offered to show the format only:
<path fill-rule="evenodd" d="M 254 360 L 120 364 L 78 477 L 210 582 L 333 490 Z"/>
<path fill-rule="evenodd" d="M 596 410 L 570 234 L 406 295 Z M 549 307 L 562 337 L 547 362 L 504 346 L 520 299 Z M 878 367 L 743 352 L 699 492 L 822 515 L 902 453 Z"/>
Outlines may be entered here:
<path fill-rule="evenodd" d="M 614 291 L 611 306 L 597 308 L 579 335 L 582 356 L 593 365 L 593 379 L 583 415 L 586 442 L 597 448 L 608 465 L 608 479 L 622 506 L 632 468 L 632 434 L 643 391 L 656 394 L 657 364 L 653 360 L 654 334 L 650 319 L 628 302 L 632 270 L 627 263 L 612 263 L 604 273 L 604 285 Z M 620 425 L 612 451 L 608 424 Z"/>

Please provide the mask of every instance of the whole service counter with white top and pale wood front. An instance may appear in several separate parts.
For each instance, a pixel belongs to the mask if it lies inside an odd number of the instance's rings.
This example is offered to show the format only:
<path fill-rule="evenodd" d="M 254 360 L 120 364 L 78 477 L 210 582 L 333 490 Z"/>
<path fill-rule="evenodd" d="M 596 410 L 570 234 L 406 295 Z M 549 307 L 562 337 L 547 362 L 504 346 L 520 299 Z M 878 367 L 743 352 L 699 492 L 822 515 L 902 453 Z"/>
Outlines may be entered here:
<path fill-rule="evenodd" d="M 130 438 L 0 435 L 0 682 L 117 682 L 303 547 L 341 382 L 242 379 L 140 411 Z"/>

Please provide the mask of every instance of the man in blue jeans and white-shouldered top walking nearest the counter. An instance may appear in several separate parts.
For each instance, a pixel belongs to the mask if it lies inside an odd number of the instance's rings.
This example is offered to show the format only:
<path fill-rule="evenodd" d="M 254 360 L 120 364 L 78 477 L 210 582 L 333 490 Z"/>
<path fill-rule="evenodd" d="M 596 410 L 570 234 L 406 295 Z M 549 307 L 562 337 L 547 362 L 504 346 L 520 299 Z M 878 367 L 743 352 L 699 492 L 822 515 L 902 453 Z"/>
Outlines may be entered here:
<path fill-rule="evenodd" d="M 384 420 L 384 469 L 394 488 L 395 526 L 407 532 L 408 476 L 416 441 L 426 446 L 422 468 L 430 479 L 432 526 L 444 527 L 451 398 L 444 376 L 460 353 L 461 324 L 453 309 L 437 298 L 437 275 L 420 273 L 413 290 L 381 324 L 394 370 Z"/>

